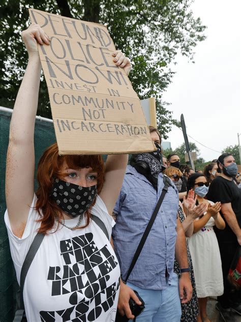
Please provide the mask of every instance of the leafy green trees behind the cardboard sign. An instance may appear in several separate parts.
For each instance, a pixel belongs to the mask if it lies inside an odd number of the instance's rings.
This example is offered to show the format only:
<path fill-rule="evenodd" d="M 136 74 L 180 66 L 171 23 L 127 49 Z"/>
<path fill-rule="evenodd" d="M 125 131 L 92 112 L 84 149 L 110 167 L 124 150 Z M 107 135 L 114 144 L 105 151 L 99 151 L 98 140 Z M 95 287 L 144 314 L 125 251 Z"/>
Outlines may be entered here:
<path fill-rule="evenodd" d="M 156 97 L 158 127 L 163 138 L 173 124 L 162 100 L 173 76 L 170 63 L 177 52 L 193 60 L 194 48 L 205 39 L 205 26 L 194 18 L 192 0 L 14 0 L 0 5 L 0 105 L 13 107 L 27 63 L 21 31 L 29 25 L 28 8 L 106 24 L 117 49 L 131 58 L 130 75 L 140 99 Z M 51 117 L 42 77 L 38 114 Z"/>

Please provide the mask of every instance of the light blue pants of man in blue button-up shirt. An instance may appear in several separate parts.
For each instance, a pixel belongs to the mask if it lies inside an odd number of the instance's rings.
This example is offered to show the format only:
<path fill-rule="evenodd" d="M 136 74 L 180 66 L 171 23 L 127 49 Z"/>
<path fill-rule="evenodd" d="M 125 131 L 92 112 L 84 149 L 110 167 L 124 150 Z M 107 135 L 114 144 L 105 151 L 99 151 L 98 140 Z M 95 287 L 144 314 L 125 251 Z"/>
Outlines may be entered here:
<path fill-rule="evenodd" d="M 143 289 L 129 282 L 145 302 L 145 309 L 137 316 L 136 322 L 180 322 L 182 309 L 179 298 L 178 276 L 172 273 L 171 284 L 166 289 Z"/>

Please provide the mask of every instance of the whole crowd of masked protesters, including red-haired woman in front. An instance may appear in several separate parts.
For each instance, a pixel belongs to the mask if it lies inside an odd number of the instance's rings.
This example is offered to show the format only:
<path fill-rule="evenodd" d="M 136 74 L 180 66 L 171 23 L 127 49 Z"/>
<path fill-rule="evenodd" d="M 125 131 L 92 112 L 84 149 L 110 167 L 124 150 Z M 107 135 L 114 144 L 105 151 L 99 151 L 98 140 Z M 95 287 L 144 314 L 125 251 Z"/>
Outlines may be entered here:
<path fill-rule="evenodd" d="M 105 164 L 101 156 L 59 156 L 54 143 L 39 161 L 35 193 L 37 42 L 49 38 L 35 24 L 22 38 L 29 60 L 10 126 L 5 222 L 19 283 L 29 247 L 44 235 L 23 288 L 27 321 L 210 322 L 210 296 L 224 321 L 241 315 L 240 290 L 228 281 L 241 245 L 233 156 L 197 172 L 176 154 L 163 156 L 153 127 L 155 150 L 132 155 L 129 165 L 127 155 Z M 122 52 L 113 61 L 130 71 Z"/>

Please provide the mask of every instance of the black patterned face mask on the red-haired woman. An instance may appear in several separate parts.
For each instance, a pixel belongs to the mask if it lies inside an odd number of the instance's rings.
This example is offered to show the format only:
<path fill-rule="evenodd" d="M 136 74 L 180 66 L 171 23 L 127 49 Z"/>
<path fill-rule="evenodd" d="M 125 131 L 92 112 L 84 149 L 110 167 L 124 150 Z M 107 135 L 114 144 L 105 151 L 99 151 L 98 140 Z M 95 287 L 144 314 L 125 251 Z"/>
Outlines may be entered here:
<path fill-rule="evenodd" d="M 82 187 L 55 179 L 50 196 L 68 216 L 75 218 L 83 214 L 97 195 L 97 185 Z"/>

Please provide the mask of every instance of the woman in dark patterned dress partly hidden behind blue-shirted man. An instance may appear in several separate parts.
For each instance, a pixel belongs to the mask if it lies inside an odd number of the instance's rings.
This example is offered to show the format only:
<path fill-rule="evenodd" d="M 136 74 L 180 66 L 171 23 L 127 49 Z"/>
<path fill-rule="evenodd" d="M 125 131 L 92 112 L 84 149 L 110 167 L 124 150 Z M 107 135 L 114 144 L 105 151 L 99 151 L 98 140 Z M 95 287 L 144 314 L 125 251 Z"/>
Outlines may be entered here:
<path fill-rule="evenodd" d="M 165 174 L 171 179 L 173 184 L 176 186 L 177 190 L 180 191 L 180 189 L 182 188 L 182 179 L 181 179 L 183 176 L 182 171 L 180 171 L 178 168 L 170 166 L 165 170 Z M 185 213 L 183 211 L 182 203 L 179 201 L 178 216 L 179 216 L 180 222 L 183 225 L 185 234 L 188 237 L 188 236 L 192 236 L 193 234 L 194 219 L 198 218 L 198 216 L 203 214 L 205 206 L 200 204 L 198 207 L 195 207 L 194 193 L 192 190 L 190 190 L 187 198 L 184 197 L 184 208 L 185 208 Z M 188 245 L 187 245 L 187 251 L 188 251 L 188 264 L 190 268 L 190 277 L 191 277 L 191 282 L 193 287 L 193 296 L 190 302 L 182 304 L 182 317 L 180 321 L 195 322 L 197 321 L 197 315 L 199 314 L 198 299 L 197 299 L 195 278 L 194 278 L 194 272 L 193 272 L 192 258 L 191 258 Z M 180 276 L 180 270 L 176 259 L 174 261 L 174 272 L 178 276 Z"/>

